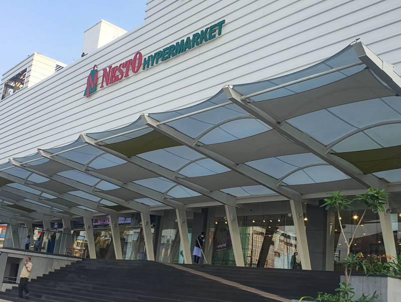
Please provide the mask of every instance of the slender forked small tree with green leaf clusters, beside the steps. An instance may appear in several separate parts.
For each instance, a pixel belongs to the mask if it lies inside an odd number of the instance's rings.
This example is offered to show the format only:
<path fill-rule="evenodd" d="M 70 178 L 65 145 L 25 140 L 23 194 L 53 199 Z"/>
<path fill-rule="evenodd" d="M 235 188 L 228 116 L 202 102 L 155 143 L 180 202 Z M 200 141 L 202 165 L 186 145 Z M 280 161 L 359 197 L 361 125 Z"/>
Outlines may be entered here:
<path fill-rule="evenodd" d="M 326 210 L 330 208 L 334 208 L 337 210 L 338 222 L 340 224 L 341 233 L 344 236 L 345 243 L 347 245 L 347 257 L 345 258 L 343 264 L 345 267 L 344 269 L 345 285 L 348 285 L 349 278 L 351 277 L 352 268 L 356 267 L 356 269 L 358 269 L 359 265 L 358 257 L 361 254 L 358 253 L 357 255 L 353 256 L 350 253 L 350 248 L 355 238 L 356 230 L 358 229 L 368 209 L 371 209 L 374 212 L 376 211 L 384 212 L 384 204 L 388 203 L 388 193 L 386 193 L 384 190 L 375 190 L 374 188 L 370 187 L 369 189 L 367 189 L 365 194 L 356 195 L 356 197 L 352 200 L 347 199 L 346 196 L 341 194 L 341 192 L 330 193 L 329 195 L 331 195 L 331 198 L 325 198 L 324 199 L 325 203 L 322 205 L 322 207 L 325 207 Z M 361 218 L 359 219 L 358 224 L 355 227 L 355 230 L 352 233 L 351 240 L 348 242 L 347 237 L 345 236 L 344 233 L 344 228 L 342 227 L 340 210 L 345 210 L 345 211 L 350 210 L 352 204 L 355 202 L 362 203 L 364 206 L 364 210 Z"/>

